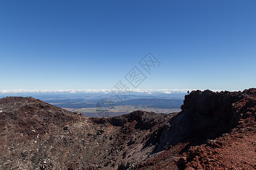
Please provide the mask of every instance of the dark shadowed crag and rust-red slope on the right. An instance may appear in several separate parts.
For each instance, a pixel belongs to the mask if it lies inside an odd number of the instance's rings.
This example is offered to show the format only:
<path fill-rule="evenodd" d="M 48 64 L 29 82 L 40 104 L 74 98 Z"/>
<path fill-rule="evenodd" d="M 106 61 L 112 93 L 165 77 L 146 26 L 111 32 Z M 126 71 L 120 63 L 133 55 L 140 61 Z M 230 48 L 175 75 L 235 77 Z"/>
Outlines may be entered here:
<path fill-rule="evenodd" d="M 256 169 L 256 88 L 192 91 L 160 141 L 171 146 L 140 169 Z"/>

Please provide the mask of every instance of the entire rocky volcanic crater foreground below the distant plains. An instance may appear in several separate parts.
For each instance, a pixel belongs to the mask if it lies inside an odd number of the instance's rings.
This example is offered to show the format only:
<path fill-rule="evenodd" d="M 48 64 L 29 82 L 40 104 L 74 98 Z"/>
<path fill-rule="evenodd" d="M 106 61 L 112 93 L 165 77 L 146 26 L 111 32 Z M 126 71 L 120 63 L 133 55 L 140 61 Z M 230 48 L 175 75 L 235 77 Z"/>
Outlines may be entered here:
<path fill-rule="evenodd" d="M 88 118 L 0 99 L 0 169 L 256 169 L 256 88 L 192 91 L 182 111 Z"/>

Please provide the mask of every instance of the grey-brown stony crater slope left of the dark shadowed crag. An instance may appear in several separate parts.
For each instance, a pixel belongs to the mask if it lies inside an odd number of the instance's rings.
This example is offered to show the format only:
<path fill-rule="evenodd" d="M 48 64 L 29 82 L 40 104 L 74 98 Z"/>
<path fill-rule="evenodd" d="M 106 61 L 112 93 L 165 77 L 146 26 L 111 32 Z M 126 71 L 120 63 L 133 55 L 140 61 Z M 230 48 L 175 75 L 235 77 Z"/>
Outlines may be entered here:
<path fill-rule="evenodd" d="M 0 169 L 135 168 L 174 115 L 88 118 L 32 97 L 6 97 L 0 99 Z"/>

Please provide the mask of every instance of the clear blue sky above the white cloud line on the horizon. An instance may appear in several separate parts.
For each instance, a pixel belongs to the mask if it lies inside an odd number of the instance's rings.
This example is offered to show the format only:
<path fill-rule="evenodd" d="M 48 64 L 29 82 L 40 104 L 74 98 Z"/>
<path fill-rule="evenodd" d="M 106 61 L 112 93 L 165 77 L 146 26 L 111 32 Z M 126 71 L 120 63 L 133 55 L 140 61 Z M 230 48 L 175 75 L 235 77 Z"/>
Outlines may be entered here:
<path fill-rule="evenodd" d="M 256 85 L 256 1 L 0 1 L 0 90 Z M 143 70 L 142 70 L 143 71 Z"/>

